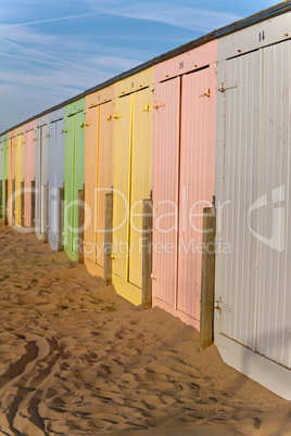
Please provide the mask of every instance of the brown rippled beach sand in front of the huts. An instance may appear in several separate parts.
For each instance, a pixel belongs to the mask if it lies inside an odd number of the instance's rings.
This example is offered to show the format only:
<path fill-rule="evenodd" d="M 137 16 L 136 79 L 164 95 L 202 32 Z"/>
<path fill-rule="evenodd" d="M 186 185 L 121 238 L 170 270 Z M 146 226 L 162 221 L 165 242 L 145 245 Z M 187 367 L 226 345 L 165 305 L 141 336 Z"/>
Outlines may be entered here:
<path fill-rule="evenodd" d="M 291 435 L 291 403 L 199 333 L 0 226 L 0 435 Z"/>

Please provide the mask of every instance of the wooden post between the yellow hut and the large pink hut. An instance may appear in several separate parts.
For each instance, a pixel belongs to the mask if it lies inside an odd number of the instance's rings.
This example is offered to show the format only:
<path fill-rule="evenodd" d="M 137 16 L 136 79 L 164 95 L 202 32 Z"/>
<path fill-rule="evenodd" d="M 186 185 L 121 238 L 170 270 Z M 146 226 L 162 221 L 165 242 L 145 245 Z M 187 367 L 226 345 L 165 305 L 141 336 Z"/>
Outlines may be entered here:
<path fill-rule="evenodd" d="M 152 306 L 152 227 L 153 202 L 143 200 L 142 204 L 142 306 Z"/>

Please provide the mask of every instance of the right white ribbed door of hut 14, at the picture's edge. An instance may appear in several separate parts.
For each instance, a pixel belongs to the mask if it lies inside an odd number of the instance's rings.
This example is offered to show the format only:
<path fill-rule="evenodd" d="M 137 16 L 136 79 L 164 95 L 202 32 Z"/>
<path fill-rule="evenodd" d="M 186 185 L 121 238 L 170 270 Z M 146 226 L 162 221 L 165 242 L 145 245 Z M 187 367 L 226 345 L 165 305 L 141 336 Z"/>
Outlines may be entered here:
<path fill-rule="evenodd" d="M 263 50 L 256 350 L 291 368 L 291 40 Z M 257 229 L 254 228 L 257 232 Z M 254 235 L 253 235 L 254 238 Z M 257 238 L 257 236 L 256 236 Z"/>

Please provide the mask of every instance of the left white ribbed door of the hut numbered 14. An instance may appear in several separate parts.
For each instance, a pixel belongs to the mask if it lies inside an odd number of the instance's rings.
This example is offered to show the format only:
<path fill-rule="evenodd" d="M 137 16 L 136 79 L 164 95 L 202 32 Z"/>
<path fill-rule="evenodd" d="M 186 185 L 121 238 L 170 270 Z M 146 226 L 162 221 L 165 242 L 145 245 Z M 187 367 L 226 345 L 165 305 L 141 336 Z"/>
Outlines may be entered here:
<path fill-rule="evenodd" d="M 260 196 L 260 105 L 262 52 L 226 63 L 225 181 L 222 209 L 222 332 L 254 348 L 257 241 L 248 230 L 245 210 Z M 257 215 L 253 215 L 257 228 Z M 218 229 L 219 230 L 219 229 Z M 223 253 L 220 253 L 222 255 Z M 243 267 L 242 267 L 243 266 Z"/>

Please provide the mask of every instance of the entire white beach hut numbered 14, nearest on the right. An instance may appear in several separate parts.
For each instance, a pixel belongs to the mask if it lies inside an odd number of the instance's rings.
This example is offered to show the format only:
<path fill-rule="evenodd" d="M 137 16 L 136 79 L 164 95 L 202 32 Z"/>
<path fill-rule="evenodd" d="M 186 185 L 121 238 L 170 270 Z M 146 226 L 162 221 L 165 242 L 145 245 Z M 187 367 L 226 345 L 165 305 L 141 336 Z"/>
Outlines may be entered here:
<path fill-rule="evenodd" d="M 214 309 L 225 362 L 289 400 L 290 11 L 280 3 L 218 39 Z"/>

